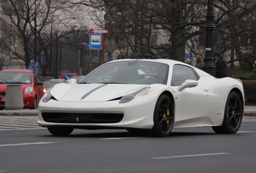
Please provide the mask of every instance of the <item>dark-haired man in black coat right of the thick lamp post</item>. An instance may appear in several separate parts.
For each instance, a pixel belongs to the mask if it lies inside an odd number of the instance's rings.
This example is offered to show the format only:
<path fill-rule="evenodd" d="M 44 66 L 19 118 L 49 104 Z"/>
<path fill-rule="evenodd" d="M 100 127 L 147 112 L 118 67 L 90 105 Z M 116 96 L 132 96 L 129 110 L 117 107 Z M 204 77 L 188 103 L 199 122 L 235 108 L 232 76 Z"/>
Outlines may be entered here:
<path fill-rule="evenodd" d="M 215 77 L 224 78 L 227 77 L 227 61 L 221 56 L 221 52 L 217 51 L 214 53 L 216 61 Z"/>

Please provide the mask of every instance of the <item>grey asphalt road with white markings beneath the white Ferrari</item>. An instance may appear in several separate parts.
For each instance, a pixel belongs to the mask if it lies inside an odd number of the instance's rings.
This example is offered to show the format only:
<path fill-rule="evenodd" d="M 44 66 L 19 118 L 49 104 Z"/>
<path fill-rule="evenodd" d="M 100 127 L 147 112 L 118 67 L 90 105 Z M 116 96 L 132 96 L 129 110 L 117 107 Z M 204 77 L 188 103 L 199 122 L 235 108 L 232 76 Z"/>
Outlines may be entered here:
<path fill-rule="evenodd" d="M 37 117 L 0 116 L 3 173 L 255 173 L 256 117 L 238 133 L 211 127 L 173 129 L 153 138 L 126 130 L 79 130 L 55 137 Z"/>

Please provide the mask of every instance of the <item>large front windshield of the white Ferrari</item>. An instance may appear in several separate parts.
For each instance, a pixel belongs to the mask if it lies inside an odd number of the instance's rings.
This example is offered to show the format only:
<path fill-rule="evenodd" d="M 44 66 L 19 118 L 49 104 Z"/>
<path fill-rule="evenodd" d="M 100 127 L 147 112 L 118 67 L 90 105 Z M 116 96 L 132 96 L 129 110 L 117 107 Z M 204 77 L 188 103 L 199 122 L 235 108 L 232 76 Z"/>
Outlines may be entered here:
<path fill-rule="evenodd" d="M 166 84 L 169 66 L 143 60 L 103 64 L 92 71 L 82 83 Z"/>

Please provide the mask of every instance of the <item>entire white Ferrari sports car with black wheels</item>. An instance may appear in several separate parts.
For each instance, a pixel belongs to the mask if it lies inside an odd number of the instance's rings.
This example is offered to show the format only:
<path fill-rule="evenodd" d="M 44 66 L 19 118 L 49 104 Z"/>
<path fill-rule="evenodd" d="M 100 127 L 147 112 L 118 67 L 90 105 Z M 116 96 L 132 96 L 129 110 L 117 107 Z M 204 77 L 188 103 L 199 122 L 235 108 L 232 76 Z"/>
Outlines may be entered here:
<path fill-rule="evenodd" d="M 76 83 L 50 88 L 38 124 L 53 135 L 73 129 L 126 129 L 166 137 L 172 128 L 211 126 L 236 133 L 244 114 L 242 81 L 215 78 L 167 59 L 107 62 Z"/>

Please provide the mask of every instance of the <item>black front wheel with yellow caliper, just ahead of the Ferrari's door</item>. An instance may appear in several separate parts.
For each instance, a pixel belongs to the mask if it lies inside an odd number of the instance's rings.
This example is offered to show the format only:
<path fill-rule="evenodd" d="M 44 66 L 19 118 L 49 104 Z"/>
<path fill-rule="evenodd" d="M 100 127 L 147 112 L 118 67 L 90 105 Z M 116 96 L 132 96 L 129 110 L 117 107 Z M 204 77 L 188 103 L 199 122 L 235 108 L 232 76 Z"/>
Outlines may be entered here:
<path fill-rule="evenodd" d="M 157 99 L 153 119 L 152 135 L 167 137 L 173 126 L 173 105 L 167 95 L 160 95 Z"/>

